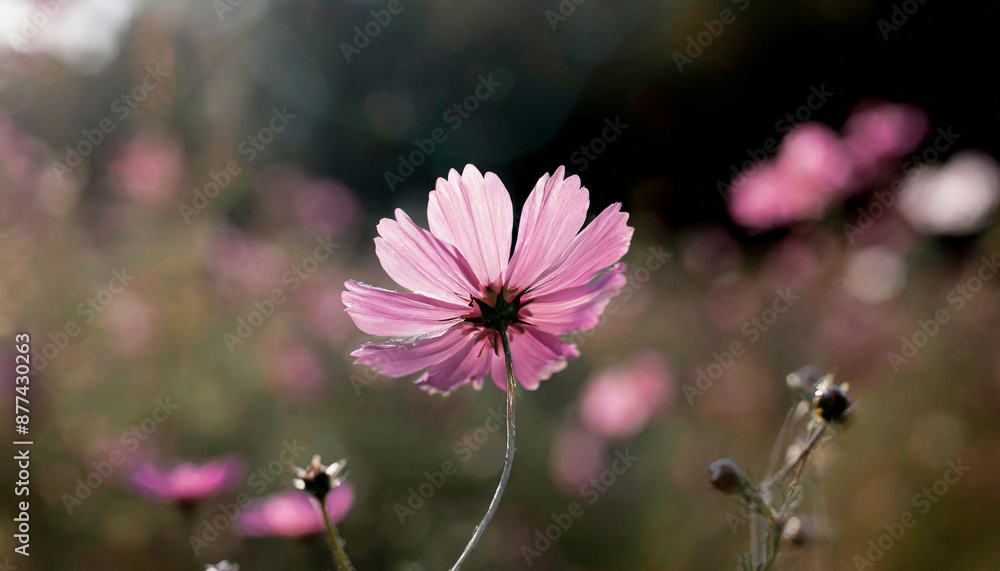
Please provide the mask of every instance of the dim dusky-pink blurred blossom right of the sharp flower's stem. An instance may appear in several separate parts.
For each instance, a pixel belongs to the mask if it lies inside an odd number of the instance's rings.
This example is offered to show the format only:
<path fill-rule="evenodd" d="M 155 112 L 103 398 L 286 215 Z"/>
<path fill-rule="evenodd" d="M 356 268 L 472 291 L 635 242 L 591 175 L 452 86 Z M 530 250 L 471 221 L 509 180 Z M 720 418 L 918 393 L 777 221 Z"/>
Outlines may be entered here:
<path fill-rule="evenodd" d="M 564 428 L 552 440 L 549 472 L 564 494 L 579 494 L 580 488 L 604 469 L 605 441 L 586 430 Z"/>

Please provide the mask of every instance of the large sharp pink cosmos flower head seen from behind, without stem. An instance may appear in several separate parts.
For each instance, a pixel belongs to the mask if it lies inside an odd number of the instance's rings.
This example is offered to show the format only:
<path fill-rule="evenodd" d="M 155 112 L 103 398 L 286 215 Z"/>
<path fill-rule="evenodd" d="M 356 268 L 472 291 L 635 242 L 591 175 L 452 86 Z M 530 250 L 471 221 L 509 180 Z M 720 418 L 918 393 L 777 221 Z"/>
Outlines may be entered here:
<path fill-rule="evenodd" d="M 510 339 L 514 374 L 526 389 L 579 355 L 558 336 L 594 327 L 625 284 L 632 228 L 621 204 L 583 228 L 589 193 L 558 168 L 528 196 L 511 255 L 514 212 L 493 173 L 468 165 L 439 178 L 430 193 L 430 231 L 402 210 L 378 225 L 375 252 L 411 292 L 348 281 L 343 302 L 365 333 L 402 338 L 365 343 L 352 355 L 383 375 L 423 371 L 424 388 L 447 392 L 486 375 L 505 388 L 498 331 Z M 583 230 L 581 231 L 581 228 Z"/>

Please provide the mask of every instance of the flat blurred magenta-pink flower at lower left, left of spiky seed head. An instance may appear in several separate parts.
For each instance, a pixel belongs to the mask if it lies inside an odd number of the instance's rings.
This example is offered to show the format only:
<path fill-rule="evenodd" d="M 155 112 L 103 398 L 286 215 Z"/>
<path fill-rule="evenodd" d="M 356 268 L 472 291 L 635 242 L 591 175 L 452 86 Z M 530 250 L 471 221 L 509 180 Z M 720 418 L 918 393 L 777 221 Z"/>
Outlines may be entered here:
<path fill-rule="evenodd" d="M 236 488 L 243 471 L 243 462 L 234 457 L 204 464 L 185 462 L 169 470 L 141 464 L 132 472 L 131 483 L 146 497 L 191 504 Z"/>

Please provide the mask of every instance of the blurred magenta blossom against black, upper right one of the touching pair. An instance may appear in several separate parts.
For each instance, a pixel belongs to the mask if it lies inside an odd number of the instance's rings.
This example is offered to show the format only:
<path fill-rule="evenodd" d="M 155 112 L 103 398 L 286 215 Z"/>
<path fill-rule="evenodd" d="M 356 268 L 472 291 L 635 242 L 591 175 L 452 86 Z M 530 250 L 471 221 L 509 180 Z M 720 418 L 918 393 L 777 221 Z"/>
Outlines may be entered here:
<path fill-rule="evenodd" d="M 906 103 L 862 101 L 844 123 L 844 142 L 859 175 L 878 176 L 886 161 L 916 150 L 930 122 L 923 109 Z"/>

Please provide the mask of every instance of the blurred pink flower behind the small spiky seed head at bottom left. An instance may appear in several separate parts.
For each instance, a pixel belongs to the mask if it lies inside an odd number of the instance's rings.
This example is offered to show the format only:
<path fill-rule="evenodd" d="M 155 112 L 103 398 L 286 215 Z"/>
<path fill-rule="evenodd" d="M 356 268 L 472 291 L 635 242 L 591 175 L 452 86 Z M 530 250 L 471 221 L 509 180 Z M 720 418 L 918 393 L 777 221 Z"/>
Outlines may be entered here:
<path fill-rule="evenodd" d="M 337 525 L 354 503 L 354 488 L 344 482 L 326 496 L 330 522 Z M 290 490 L 250 504 L 236 519 L 235 529 L 248 537 L 305 537 L 326 529 L 319 504 L 306 492 Z"/>

